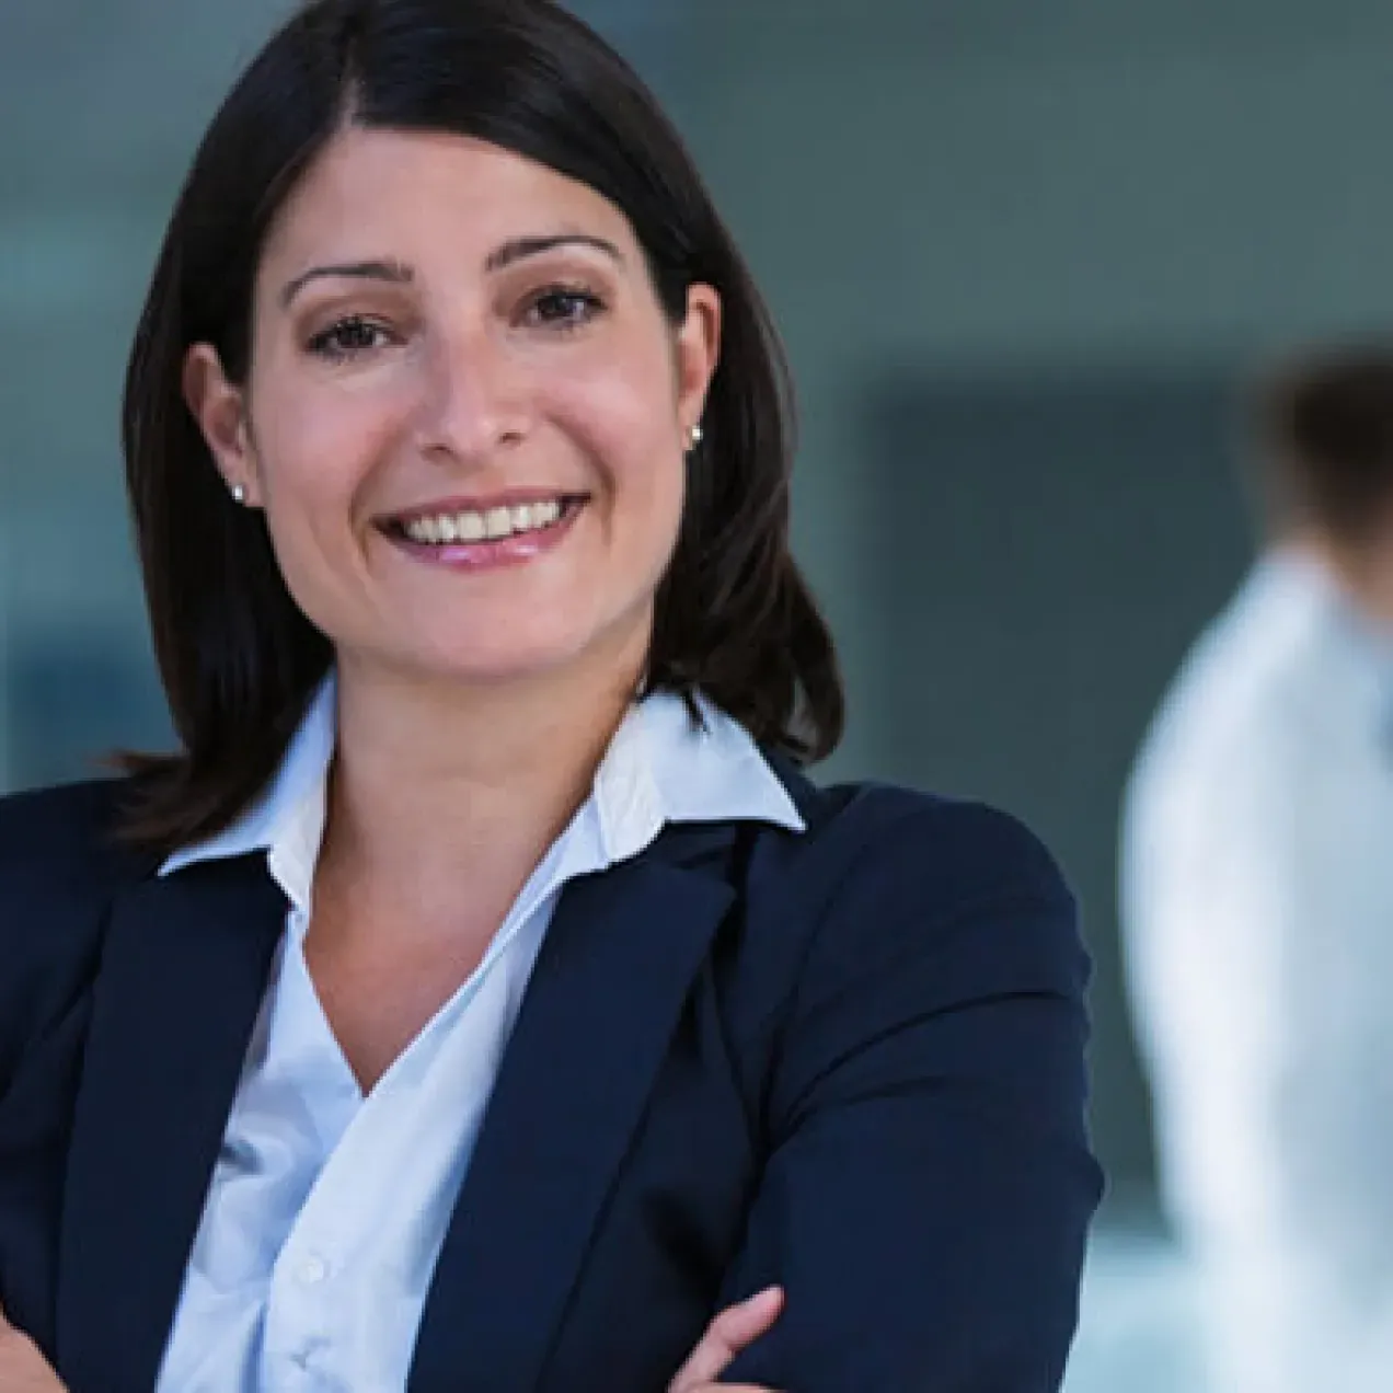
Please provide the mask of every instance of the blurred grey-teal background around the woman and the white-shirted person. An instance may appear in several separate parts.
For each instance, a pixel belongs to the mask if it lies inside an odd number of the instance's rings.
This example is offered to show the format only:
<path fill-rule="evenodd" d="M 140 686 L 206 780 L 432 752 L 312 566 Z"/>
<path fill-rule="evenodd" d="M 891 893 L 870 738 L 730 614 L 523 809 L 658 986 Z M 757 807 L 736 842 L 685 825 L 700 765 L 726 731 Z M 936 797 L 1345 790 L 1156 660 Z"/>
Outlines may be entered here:
<path fill-rule="evenodd" d="M 1117 812 L 1252 554 L 1236 393 L 1393 323 L 1386 0 L 574 0 L 667 102 L 797 371 L 829 776 L 983 797 L 1096 957 L 1112 1190 L 1071 1393 L 1199 1387 L 1120 988 Z M 177 182 L 286 0 L 0 6 L 0 787 L 167 740 L 117 401 Z"/>

